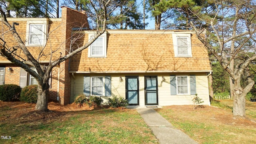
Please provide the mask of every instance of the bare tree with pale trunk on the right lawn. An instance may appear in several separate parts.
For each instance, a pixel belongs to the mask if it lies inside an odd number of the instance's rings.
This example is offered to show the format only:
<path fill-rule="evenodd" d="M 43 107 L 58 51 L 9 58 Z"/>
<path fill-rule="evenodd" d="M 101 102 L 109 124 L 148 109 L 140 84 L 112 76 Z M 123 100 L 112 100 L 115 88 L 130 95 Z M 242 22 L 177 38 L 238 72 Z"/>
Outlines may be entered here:
<path fill-rule="evenodd" d="M 232 78 L 233 115 L 245 117 L 245 96 L 254 85 L 248 66 L 256 60 L 256 3 L 254 0 L 218 0 L 215 10 L 201 13 L 198 18 L 208 25 L 205 37 L 205 29 L 191 22 L 198 38 Z M 246 76 L 244 86 L 243 75 Z"/>

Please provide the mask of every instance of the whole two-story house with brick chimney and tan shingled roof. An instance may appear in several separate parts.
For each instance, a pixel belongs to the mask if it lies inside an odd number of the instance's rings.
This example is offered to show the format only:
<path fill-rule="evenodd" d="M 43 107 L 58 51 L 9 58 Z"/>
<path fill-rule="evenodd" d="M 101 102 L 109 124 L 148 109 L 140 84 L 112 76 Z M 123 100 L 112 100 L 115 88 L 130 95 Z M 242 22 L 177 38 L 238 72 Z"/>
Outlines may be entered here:
<path fill-rule="evenodd" d="M 63 54 L 70 50 L 70 45 L 75 49 L 94 37 L 94 30 L 88 30 L 86 16 L 66 7 L 62 7 L 59 19 L 18 20 L 24 21 L 23 28 L 17 26 L 20 28 L 17 31 L 24 34 L 24 41 L 44 43 L 44 48 L 59 48 L 57 52 Z M 48 30 L 45 33 L 51 34 L 50 41 L 31 40 L 30 22 Z M 77 37 L 76 42 L 72 41 Z M 31 47 L 36 49 L 38 45 Z M 47 65 L 50 59 L 45 55 L 40 60 Z M 2 57 L 0 72 L 0 80 L 5 84 L 35 83 L 22 68 Z M 193 31 L 106 30 L 88 48 L 53 69 L 50 99 L 68 104 L 79 94 L 85 94 L 101 96 L 104 102 L 117 96 L 128 99 L 130 105 L 167 106 L 193 104 L 192 98 L 197 94 L 203 104 L 209 104 L 210 72 L 208 52 Z"/>

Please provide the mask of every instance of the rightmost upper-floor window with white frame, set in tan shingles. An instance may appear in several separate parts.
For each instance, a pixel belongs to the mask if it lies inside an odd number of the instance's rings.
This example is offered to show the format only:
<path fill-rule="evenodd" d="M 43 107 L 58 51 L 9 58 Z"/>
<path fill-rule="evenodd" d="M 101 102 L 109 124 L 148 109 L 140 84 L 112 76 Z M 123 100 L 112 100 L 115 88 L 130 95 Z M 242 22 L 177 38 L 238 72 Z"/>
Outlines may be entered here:
<path fill-rule="evenodd" d="M 192 57 L 191 35 L 172 34 L 175 57 Z"/>

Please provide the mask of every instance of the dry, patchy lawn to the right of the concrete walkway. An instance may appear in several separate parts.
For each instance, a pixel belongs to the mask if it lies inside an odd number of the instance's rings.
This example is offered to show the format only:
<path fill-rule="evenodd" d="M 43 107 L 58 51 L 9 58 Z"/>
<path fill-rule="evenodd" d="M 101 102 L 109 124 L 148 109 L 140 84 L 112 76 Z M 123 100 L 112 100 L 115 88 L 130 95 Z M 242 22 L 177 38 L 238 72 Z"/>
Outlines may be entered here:
<path fill-rule="evenodd" d="M 256 143 L 256 123 L 233 118 L 231 109 L 165 106 L 157 112 L 200 144 Z"/>

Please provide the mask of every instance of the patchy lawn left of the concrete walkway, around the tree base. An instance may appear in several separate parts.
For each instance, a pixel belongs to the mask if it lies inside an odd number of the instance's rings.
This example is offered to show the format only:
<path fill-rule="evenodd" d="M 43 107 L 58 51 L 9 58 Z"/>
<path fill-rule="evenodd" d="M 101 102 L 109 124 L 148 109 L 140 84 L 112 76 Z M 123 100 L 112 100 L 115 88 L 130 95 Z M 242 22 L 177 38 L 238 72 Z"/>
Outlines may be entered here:
<path fill-rule="evenodd" d="M 50 112 L 35 104 L 0 102 L 1 144 L 155 144 L 156 137 L 136 110 L 49 103 Z"/>

